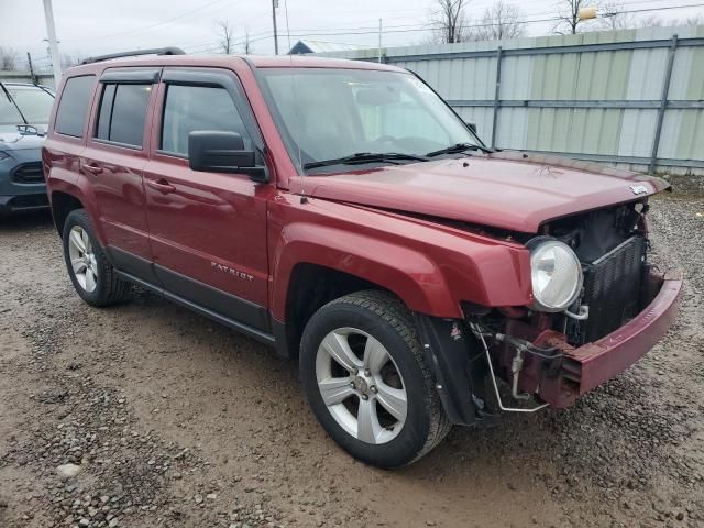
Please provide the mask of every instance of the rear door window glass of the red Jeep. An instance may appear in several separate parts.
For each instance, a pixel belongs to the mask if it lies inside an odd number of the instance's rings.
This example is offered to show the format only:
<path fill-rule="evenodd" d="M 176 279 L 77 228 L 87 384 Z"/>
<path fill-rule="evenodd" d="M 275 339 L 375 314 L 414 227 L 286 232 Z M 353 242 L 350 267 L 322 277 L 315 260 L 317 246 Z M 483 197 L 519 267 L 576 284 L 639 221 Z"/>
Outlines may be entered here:
<path fill-rule="evenodd" d="M 105 85 L 96 138 L 142 146 L 152 85 Z"/>

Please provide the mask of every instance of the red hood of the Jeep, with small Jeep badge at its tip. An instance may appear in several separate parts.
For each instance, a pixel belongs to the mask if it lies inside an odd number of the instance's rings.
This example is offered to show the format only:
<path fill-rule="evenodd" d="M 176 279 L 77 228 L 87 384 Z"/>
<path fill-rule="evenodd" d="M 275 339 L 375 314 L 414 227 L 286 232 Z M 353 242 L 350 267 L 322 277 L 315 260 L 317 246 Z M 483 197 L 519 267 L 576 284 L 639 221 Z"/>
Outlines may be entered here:
<path fill-rule="evenodd" d="M 295 193 L 526 233 L 548 220 L 659 193 L 666 180 L 521 152 L 304 176 Z"/>

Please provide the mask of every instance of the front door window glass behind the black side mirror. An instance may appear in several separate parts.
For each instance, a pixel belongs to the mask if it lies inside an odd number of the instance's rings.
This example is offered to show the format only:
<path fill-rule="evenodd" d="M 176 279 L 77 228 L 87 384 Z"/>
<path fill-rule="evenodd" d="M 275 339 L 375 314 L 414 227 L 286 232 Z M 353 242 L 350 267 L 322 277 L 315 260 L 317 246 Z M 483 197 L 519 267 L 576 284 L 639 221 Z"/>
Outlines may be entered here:
<path fill-rule="evenodd" d="M 237 132 L 242 135 L 244 147 L 252 147 L 252 141 L 228 90 L 168 85 L 161 150 L 188 155 L 188 134 L 196 130 Z"/>

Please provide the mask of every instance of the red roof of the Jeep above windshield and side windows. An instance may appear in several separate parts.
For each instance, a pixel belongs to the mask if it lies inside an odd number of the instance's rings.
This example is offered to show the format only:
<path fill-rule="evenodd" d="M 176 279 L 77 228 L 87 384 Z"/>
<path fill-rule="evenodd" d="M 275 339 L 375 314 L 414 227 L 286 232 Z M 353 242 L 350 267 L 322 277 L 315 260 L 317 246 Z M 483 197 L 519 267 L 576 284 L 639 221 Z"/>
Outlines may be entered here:
<path fill-rule="evenodd" d="M 68 75 L 80 75 L 100 72 L 106 67 L 130 66 L 209 66 L 227 67 L 235 61 L 246 61 L 256 68 L 340 68 L 340 69 L 382 69 L 404 72 L 403 68 L 386 64 L 344 58 L 301 57 L 300 55 L 157 55 L 150 57 L 113 58 L 100 61 L 68 70 Z"/>

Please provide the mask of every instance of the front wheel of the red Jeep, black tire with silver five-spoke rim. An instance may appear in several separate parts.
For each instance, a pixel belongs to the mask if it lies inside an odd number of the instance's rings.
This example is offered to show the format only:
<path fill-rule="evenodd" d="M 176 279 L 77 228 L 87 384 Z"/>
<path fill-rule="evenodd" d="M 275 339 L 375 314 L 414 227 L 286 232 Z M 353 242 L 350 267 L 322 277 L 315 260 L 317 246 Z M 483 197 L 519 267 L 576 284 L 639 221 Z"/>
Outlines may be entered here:
<path fill-rule="evenodd" d="M 360 292 L 320 308 L 299 361 L 316 418 L 363 462 L 409 464 L 450 430 L 411 315 L 391 294 Z"/>

